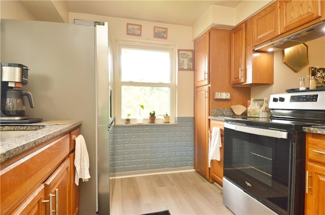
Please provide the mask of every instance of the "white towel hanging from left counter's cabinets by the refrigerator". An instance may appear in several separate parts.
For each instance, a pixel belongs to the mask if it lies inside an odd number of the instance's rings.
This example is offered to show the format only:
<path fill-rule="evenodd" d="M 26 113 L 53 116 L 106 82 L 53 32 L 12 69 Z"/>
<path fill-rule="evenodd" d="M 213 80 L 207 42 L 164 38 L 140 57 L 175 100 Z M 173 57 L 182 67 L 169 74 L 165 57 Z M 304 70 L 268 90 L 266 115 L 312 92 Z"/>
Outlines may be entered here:
<path fill-rule="evenodd" d="M 89 156 L 85 139 L 82 135 L 76 138 L 76 149 L 75 149 L 75 183 L 79 185 L 79 179 L 83 182 L 87 182 L 90 178 L 89 175 Z"/>

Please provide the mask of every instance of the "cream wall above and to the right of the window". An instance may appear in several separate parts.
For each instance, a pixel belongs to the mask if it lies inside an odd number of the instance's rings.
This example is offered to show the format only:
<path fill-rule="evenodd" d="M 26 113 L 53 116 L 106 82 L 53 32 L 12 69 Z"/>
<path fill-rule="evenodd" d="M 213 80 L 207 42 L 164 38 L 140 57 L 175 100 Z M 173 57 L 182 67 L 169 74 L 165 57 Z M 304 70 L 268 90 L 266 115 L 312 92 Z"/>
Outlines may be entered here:
<path fill-rule="evenodd" d="M 108 22 L 113 53 L 116 49 L 116 40 L 123 39 L 166 42 L 176 44 L 178 49 L 193 49 L 192 28 L 188 26 L 70 13 L 69 22 L 73 23 L 74 19 Z M 141 36 L 126 35 L 126 23 L 142 25 Z M 167 39 L 154 38 L 154 26 L 168 28 Z M 177 116 L 193 116 L 193 71 L 178 71 L 177 79 Z"/>

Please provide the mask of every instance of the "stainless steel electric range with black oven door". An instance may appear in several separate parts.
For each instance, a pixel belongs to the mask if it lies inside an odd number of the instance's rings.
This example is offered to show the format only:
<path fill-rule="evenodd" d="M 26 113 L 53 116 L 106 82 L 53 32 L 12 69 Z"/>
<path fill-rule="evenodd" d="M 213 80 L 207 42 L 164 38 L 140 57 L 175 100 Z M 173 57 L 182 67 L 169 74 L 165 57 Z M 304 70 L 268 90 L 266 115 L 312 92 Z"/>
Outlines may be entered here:
<path fill-rule="evenodd" d="M 304 214 L 305 133 L 325 91 L 271 95 L 270 117 L 226 118 L 223 203 L 235 214 Z"/>

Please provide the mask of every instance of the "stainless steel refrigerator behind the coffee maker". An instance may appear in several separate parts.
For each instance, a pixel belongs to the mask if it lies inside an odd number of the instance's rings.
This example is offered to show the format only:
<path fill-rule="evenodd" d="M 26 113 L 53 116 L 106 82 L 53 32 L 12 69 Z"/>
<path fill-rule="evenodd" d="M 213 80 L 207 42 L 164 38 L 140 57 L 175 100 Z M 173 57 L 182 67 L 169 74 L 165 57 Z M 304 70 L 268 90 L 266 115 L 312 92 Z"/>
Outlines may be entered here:
<path fill-rule="evenodd" d="M 82 120 L 91 178 L 79 183 L 79 214 L 109 214 L 108 24 L 81 22 L 1 20 L 0 59 L 28 67 L 30 117 Z"/>

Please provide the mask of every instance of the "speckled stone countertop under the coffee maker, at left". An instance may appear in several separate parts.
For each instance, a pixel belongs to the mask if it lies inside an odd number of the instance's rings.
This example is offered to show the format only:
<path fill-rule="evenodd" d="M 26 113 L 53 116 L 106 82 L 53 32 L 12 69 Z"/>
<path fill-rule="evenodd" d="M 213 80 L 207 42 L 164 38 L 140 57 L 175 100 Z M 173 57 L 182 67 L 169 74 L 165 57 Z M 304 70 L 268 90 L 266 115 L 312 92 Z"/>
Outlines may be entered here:
<path fill-rule="evenodd" d="M 1 124 L 1 132 L 5 131 L 33 131 L 30 134 L 25 134 L 13 138 L 6 139 L 0 142 L 0 163 L 9 160 L 10 158 L 23 153 L 35 146 L 38 146 L 56 136 L 69 132 L 73 128 L 81 125 L 82 121 L 65 121 L 64 124 L 55 124 L 55 121 L 46 125 L 46 123 L 39 123 L 39 125 L 7 125 Z M 38 124 L 38 123 L 35 123 Z M 38 126 L 38 127 L 36 127 Z M 43 128 L 42 128 L 43 127 Z M 39 129 L 34 131 L 35 129 Z"/>

